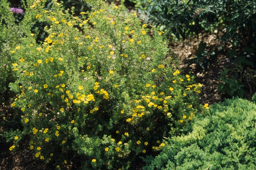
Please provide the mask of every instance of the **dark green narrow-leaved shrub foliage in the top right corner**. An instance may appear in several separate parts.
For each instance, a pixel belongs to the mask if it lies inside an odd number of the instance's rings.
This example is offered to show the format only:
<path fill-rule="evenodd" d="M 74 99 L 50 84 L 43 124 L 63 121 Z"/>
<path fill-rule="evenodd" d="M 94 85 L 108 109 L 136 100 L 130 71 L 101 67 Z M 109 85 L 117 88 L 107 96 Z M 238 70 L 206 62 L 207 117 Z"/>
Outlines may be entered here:
<path fill-rule="evenodd" d="M 150 23 L 155 21 L 166 26 L 178 39 L 180 35 L 185 39 L 189 33 L 198 35 L 200 30 L 209 26 L 220 26 L 226 30 L 220 40 L 236 46 L 240 39 L 246 46 L 254 46 L 255 5 L 256 2 L 246 0 L 152 0 L 145 12 L 150 14 L 146 16 Z"/>

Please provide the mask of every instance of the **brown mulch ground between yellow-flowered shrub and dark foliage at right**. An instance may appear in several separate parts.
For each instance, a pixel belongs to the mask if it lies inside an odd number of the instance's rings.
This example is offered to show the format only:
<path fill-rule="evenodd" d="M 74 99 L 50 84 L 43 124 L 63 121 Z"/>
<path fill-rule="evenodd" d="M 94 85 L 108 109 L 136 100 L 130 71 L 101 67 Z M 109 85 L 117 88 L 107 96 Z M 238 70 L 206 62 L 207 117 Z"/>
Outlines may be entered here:
<path fill-rule="evenodd" d="M 169 44 L 169 48 L 177 54 L 180 61 L 181 74 L 195 75 L 195 81 L 203 85 L 200 96 L 202 104 L 208 103 L 209 105 L 223 102 L 225 98 L 232 98 L 227 94 L 218 93 L 218 84 L 220 83 L 217 78 L 221 75 L 220 72 L 229 64 L 228 50 L 231 50 L 231 45 L 228 43 L 219 44 L 218 41 L 214 41 L 215 38 L 221 36 L 221 33 L 209 34 L 201 33 L 199 37 L 190 37 L 182 42 L 173 42 Z M 221 45 L 223 50 L 218 50 L 217 58 L 210 60 L 210 65 L 206 70 L 197 67 L 196 64 L 185 64 L 187 60 L 195 56 L 196 50 L 200 44 L 200 41 L 207 43 L 206 49 L 213 51 L 215 47 L 219 49 Z M 256 92 L 256 84 L 252 82 L 242 82 L 244 84 L 244 90 L 246 92 L 246 99 L 251 100 L 252 95 Z M 250 89 L 251 87 L 251 89 Z"/>

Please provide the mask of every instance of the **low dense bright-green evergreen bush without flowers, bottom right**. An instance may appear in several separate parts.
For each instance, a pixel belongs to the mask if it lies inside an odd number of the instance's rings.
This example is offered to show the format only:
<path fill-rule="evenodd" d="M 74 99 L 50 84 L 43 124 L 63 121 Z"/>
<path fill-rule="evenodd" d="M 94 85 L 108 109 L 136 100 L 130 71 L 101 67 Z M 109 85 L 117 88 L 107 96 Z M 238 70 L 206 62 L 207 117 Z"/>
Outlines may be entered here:
<path fill-rule="evenodd" d="M 191 133 L 169 139 L 161 154 L 146 159 L 148 165 L 143 170 L 253 170 L 255 124 L 255 103 L 227 99 L 204 112 Z"/>

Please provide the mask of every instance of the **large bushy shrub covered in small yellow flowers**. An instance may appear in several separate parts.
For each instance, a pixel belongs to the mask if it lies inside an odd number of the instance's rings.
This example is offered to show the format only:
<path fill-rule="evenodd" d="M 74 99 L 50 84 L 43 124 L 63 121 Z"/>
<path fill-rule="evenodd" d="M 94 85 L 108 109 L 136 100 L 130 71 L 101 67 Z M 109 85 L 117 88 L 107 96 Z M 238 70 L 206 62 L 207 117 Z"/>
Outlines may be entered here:
<path fill-rule="evenodd" d="M 23 112 L 22 135 L 30 136 L 36 159 L 57 169 L 74 159 L 82 169 L 128 169 L 202 109 L 202 85 L 180 74 L 162 32 L 150 37 L 123 1 L 87 1 L 92 8 L 83 19 L 57 1 L 52 11 L 44 3 L 28 1 L 25 20 L 48 23 L 48 37 L 38 44 L 38 32 L 27 29 L 10 49 L 17 78 L 10 87 L 18 94 L 12 107 Z"/>

